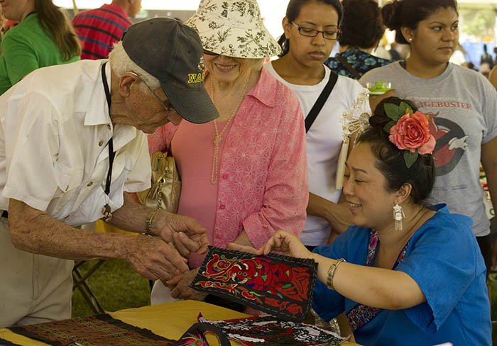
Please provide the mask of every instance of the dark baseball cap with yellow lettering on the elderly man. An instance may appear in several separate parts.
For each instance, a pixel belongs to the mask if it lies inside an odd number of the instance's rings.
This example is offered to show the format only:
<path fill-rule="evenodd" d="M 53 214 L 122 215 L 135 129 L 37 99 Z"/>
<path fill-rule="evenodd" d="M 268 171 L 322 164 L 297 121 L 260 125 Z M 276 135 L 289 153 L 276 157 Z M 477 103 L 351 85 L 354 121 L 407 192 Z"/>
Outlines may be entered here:
<path fill-rule="evenodd" d="M 173 18 L 133 24 L 122 38 L 131 60 L 157 78 L 178 114 L 191 123 L 219 116 L 204 88 L 204 53 L 199 35 Z"/>

